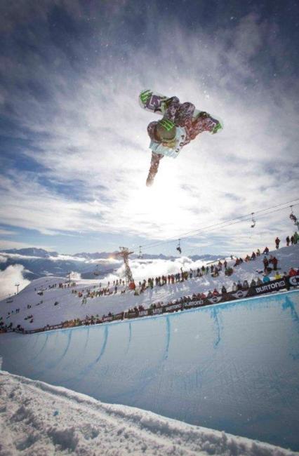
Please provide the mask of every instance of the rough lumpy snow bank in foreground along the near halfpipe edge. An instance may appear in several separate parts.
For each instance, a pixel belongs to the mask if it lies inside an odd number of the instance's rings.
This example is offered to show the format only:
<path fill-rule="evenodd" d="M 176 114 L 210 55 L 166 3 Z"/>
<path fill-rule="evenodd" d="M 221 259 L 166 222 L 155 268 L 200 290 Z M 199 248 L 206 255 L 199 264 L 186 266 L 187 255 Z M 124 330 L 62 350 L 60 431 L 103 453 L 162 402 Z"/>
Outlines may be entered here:
<path fill-rule="evenodd" d="M 6 372 L 0 391 L 1 456 L 295 454 Z"/>

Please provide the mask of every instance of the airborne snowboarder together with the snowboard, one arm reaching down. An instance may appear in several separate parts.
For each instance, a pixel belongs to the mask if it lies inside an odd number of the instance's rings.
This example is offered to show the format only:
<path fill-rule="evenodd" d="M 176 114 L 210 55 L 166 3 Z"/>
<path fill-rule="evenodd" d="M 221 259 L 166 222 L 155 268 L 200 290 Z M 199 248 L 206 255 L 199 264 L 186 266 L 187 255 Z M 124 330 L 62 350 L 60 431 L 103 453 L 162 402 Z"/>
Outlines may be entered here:
<path fill-rule="evenodd" d="M 147 111 L 163 116 L 160 121 L 151 122 L 147 126 L 152 149 L 147 187 L 153 184 L 159 162 L 164 155 L 175 158 L 182 147 L 194 140 L 199 133 L 217 133 L 222 129 L 220 121 L 211 114 L 198 111 L 190 102 L 181 104 L 177 97 L 167 98 L 151 90 L 143 90 L 140 94 L 140 105 Z"/>

